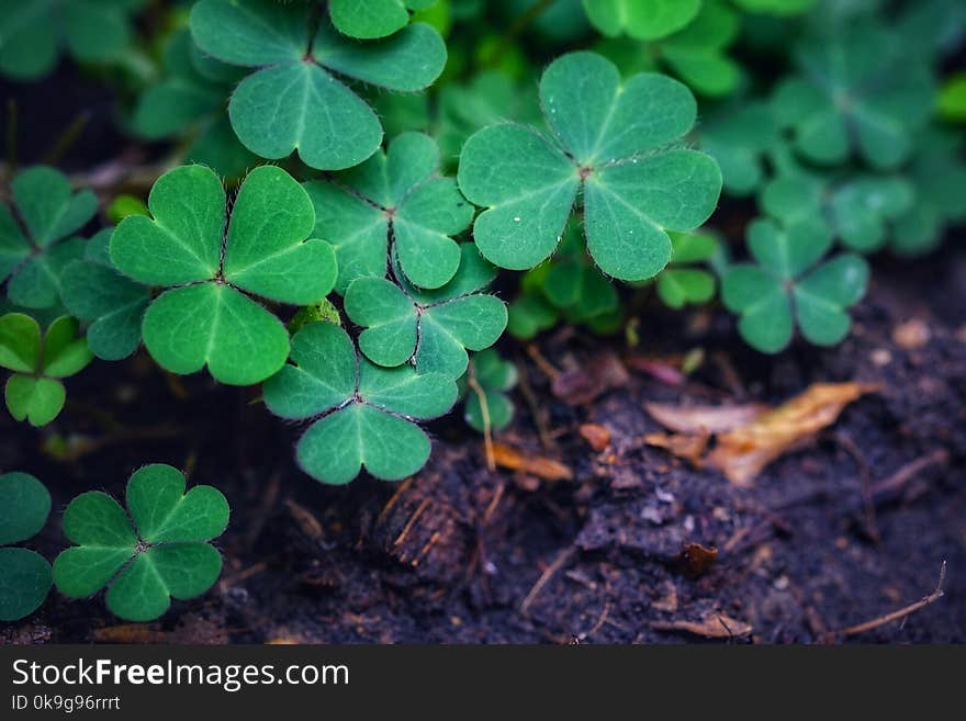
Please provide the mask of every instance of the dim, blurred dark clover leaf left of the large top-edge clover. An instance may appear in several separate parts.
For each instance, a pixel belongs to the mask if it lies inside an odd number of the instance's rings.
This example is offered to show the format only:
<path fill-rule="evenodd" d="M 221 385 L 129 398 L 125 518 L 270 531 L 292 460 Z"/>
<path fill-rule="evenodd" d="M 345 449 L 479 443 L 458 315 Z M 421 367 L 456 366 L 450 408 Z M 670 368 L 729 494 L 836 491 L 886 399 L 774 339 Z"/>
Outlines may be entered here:
<path fill-rule="evenodd" d="M 165 49 L 164 77 L 138 98 L 132 126 L 151 140 L 191 138 L 184 158 L 229 178 L 255 165 L 238 142 L 225 112 L 225 99 L 244 71 L 202 55 L 188 30 L 171 35 Z"/>

